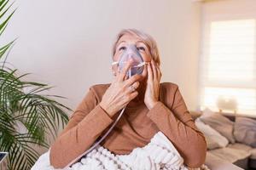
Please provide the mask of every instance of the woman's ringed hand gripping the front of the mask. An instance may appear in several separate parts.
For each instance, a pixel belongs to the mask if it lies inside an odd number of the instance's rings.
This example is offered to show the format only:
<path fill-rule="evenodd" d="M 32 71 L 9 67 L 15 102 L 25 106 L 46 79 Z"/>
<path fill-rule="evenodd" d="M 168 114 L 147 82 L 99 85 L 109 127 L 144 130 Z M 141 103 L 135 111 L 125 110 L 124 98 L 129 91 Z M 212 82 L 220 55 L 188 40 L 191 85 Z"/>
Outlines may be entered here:
<path fill-rule="evenodd" d="M 129 102 L 137 97 L 137 89 L 139 87 L 139 80 L 142 78 L 141 75 L 133 75 L 127 79 L 126 73 L 131 67 L 131 60 L 127 62 L 122 71 L 118 71 L 117 76 L 113 79 L 110 87 L 107 89 L 105 94 L 102 96 L 100 106 L 104 111 L 108 113 L 110 117 L 113 117 L 118 111 L 128 105 Z"/>

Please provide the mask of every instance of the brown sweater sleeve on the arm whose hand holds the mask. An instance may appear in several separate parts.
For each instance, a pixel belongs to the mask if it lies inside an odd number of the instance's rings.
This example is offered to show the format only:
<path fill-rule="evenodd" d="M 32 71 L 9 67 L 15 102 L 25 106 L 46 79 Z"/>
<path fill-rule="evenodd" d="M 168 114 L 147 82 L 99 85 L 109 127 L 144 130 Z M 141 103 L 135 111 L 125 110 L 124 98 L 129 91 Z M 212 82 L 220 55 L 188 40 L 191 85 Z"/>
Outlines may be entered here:
<path fill-rule="evenodd" d="M 98 105 L 90 88 L 73 112 L 67 127 L 61 132 L 49 152 L 50 164 L 55 168 L 66 167 L 77 156 L 88 150 L 113 119 Z"/>

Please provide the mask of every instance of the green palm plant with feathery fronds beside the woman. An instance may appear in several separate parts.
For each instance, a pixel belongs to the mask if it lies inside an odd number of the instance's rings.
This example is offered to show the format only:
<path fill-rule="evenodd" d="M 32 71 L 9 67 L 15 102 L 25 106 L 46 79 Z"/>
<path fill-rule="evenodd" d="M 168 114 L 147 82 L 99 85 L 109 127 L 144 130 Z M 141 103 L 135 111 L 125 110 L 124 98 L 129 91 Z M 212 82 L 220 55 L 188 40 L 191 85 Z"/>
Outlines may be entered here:
<path fill-rule="evenodd" d="M 9 0 L 0 0 L 0 36 L 15 13 Z M 48 136 L 56 136 L 68 121 L 67 106 L 47 95 L 49 85 L 24 81 L 6 59 L 15 41 L 0 48 L 0 151 L 8 151 L 8 169 L 30 169 L 38 159 L 36 146 L 49 148 Z M 1 167 L 1 165 L 0 165 Z"/>

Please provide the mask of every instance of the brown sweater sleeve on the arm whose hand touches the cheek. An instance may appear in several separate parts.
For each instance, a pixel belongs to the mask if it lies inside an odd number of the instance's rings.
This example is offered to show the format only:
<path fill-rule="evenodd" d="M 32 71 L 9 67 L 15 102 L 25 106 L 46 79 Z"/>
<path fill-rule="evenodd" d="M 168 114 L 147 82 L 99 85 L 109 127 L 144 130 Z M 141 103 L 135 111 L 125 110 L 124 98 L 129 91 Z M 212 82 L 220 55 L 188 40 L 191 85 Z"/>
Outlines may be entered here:
<path fill-rule="evenodd" d="M 188 167 L 201 167 L 206 159 L 207 143 L 203 133 L 195 127 L 178 88 L 172 109 L 159 101 L 147 116 L 172 141 Z"/>

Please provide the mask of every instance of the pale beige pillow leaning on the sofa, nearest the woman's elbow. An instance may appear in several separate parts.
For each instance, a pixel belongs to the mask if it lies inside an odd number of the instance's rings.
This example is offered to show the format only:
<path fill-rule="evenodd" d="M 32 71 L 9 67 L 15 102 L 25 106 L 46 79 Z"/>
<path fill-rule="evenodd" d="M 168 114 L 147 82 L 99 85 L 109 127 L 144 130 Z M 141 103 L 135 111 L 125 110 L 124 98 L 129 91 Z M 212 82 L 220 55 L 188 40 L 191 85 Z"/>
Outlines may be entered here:
<path fill-rule="evenodd" d="M 209 109 L 204 110 L 200 118 L 202 122 L 210 125 L 212 128 L 217 130 L 218 133 L 221 133 L 226 139 L 229 139 L 230 143 L 235 143 L 236 140 L 233 135 L 234 122 L 230 121 L 230 119 Z"/>

